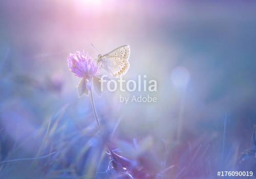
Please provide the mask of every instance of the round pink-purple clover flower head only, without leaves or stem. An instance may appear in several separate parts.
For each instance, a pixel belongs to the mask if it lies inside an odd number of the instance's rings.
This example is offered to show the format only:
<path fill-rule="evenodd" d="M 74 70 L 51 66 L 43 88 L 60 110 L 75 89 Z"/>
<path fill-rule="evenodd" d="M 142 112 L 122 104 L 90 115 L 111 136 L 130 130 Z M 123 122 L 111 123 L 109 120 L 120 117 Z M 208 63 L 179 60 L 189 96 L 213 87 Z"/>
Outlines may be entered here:
<path fill-rule="evenodd" d="M 79 78 L 90 79 L 93 75 L 98 73 L 98 65 L 88 53 L 75 52 L 68 56 L 68 66 L 70 71 L 75 73 Z"/>

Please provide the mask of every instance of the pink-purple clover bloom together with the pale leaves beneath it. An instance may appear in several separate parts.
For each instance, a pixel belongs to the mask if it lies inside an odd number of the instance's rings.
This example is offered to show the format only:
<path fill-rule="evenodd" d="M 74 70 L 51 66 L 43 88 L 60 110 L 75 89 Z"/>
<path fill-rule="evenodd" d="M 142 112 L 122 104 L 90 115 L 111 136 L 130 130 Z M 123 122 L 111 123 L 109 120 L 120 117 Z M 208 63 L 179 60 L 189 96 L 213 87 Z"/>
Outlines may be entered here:
<path fill-rule="evenodd" d="M 92 86 L 94 86 L 94 91 L 100 95 L 100 75 L 99 67 L 97 62 L 93 60 L 88 53 L 75 52 L 68 56 L 68 66 L 71 72 L 75 73 L 75 76 L 82 78 L 77 86 L 78 97 L 83 94 L 88 95 L 89 91 L 92 91 Z"/>

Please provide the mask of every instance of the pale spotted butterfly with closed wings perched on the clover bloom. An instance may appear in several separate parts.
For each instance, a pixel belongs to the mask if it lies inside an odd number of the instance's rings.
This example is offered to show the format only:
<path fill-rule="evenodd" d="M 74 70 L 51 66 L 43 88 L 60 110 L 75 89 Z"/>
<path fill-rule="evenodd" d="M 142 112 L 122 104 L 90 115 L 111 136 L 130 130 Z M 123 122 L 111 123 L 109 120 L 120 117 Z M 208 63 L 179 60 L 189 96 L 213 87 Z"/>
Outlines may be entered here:
<path fill-rule="evenodd" d="M 99 54 L 97 60 L 98 66 L 118 78 L 124 75 L 130 67 L 130 63 L 128 62 L 130 52 L 129 45 L 122 45 L 108 54 Z"/>

